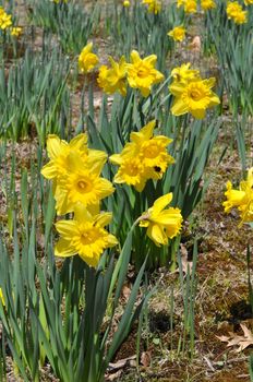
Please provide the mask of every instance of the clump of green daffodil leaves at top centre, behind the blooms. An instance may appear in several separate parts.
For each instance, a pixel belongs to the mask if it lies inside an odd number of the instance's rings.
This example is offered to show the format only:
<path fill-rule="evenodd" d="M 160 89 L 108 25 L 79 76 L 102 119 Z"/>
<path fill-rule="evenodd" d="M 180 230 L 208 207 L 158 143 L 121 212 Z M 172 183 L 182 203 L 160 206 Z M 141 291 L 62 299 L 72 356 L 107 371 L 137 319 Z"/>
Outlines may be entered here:
<path fill-rule="evenodd" d="M 164 71 L 166 58 L 173 47 L 167 33 L 173 28 L 176 21 L 179 24 L 183 21 L 182 13 L 176 12 L 176 4 L 165 5 L 161 12 L 154 15 L 147 12 L 141 1 L 136 1 L 132 10 L 116 2 L 112 10 L 107 7 L 106 32 L 112 39 L 112 49 L 117 56 L 125 55 L 129 58 L 132 49 L 144 56 L 156 55 L 157 68 Z"/>

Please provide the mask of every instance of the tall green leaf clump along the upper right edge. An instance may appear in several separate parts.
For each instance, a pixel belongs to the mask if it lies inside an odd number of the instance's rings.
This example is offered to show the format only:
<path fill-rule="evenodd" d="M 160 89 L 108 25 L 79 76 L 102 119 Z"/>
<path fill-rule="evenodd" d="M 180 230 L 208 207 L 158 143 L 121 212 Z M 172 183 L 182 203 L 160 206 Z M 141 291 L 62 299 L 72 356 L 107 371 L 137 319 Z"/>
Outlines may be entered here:
<path fill-rule="evenodd" d="M 253 62 L 253 10 L 248 7 L 246 24 L 237 25 L 227 19 L 226 4 L 219 2 L 214 12 L 207 14 L 205 44 L 213 46 L 219 64 L 219 86 L 228 99 L 232 112 L 234 136 L 238 151 L 245 171 L 250 165 L 246 162 L 251 139 L 253 115 L 253 73 L 250 70 Z"/>

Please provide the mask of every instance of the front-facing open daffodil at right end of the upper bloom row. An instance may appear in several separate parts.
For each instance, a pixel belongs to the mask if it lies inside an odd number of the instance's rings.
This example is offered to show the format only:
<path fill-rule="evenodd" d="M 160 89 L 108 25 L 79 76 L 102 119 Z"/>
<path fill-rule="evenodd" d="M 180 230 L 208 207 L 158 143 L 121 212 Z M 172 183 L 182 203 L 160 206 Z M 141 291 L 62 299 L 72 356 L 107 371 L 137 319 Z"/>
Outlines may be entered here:
<path fill-rule="evenodd" d="M 218 105 L 218 96 L 212 92 L 215 79 L 172 83 L 169 89 L 174 96 L 171 112 L 181 116 L 191 112 L 197 119 L 205 118 L 206 109 Z"/>

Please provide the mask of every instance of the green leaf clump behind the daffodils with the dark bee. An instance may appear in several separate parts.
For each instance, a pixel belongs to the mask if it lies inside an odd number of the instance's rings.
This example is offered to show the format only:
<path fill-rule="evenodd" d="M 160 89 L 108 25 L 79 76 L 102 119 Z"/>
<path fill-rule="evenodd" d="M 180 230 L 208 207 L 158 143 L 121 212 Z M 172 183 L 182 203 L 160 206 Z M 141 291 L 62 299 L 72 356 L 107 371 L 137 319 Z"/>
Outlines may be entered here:
<path fill-rule="evenodd" d="M 173 192 L 172 205 L 180 207 L 183 217 L 188 218 L 204 198 L 208 187 L 208 180 L 205 181 L 203 174 L 220 122 L 216 119 L 195 121 L 188 116 L 172 117 L 169 112 L 171 98 L 162 91 L 164 86 L 154 96 L 143 99 L 129 89 L 125 98 L 115 96 L 109 111 L 107 97 L 104 97 L 98 123 L 92 118 L 92 112 L 86 115 L 91 145 L 106 151 L 108 155 L 120 153 L 129 142 L 131 132 L 138 131 L 154 118 L 157 118 L 157 134 L 173 139 L 169 145 L 169 153 L 176 163 L 169 166 L 161 181 L 149 180 L 142 193 L 125 184 L 116 186 L 117 191 L 104 202 L 105 210 L 112 211 L 112 231 L 121 242 L 125 240 L 132 224 L 160 195 Z M 92 105 L 89 109 L 93 109 Z M 118 167 L 108 164 L 104 176 L 112 181 L 117 170 Z M 173 263 L 177 250 L 174 246 L 176 242 L 172 241 L 170 250 L 158 249 L 146 238 L 145 230 L 138 228 L 133 242 L 135 265 L 137 268 L 141 266 L 146 253 L 150 253 L 149 267 Z"/>

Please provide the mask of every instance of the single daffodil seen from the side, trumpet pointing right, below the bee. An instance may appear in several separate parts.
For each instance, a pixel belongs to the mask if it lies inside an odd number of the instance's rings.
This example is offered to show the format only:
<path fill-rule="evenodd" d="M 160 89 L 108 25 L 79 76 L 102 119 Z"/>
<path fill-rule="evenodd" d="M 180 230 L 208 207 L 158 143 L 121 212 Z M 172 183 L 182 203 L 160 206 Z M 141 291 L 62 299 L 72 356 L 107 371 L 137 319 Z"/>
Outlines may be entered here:
<path fill-rule="evenodd" d="M 140 218 L 140 227 L 147 228 L 147 236 L 158 247 L 168 244 L 168 240 L 177 236 L 182 226 L 181 211 L 173 207 L 166 208 L 171 200 L 172 193 L 158 198 Z"/>

